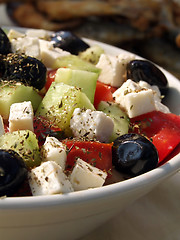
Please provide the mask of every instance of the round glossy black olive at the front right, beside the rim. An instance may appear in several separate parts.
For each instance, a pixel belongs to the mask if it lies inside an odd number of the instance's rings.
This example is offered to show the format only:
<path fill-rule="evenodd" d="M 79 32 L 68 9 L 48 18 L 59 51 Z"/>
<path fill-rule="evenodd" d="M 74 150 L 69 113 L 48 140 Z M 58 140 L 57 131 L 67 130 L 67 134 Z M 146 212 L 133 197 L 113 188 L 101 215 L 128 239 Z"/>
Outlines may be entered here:
<path fill-rule="evenodd" d="M 122 135 L 114 141 L 112 157 L 115 168 L 131 177 L 154 169 L 159 159 L 152 142 L 134 133 Z"/>

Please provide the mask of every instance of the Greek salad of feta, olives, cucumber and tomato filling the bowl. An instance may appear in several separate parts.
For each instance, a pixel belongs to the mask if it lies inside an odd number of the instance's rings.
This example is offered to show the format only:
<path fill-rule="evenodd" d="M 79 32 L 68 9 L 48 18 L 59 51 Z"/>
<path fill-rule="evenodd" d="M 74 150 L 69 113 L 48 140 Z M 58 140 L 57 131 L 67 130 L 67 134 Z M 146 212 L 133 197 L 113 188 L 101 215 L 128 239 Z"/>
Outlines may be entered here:
<path fill-rule="evenodd" d="M 180 116 L 152 62 L 37 29 L 0 29 L 0 61 L 1 197 L 102 187 L 180 152 Z"/>

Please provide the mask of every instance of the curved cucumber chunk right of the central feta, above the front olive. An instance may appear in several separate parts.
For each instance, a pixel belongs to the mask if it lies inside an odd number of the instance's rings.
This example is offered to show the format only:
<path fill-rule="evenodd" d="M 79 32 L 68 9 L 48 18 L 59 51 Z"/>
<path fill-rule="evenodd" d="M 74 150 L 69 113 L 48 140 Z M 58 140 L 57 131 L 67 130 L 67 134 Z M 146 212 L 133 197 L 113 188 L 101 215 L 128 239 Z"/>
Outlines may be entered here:
<path fill-rule="evenodd" d="M 114 131 L 110 137 L 111 142 L 117 137 L 128 133 L 129 118 L 127 114 L 120 109 L 119 104 L 101 101 L 97 110 L 106 113 L 114 122 Z"/>

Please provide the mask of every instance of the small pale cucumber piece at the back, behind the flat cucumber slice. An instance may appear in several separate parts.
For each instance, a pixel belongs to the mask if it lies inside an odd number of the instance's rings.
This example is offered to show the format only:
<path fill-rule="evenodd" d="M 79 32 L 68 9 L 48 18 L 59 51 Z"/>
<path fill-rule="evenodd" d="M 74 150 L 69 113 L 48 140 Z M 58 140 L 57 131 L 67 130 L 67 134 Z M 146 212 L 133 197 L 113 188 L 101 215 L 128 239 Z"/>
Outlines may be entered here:
<path fill-rule="evenodd" d="M 80 52 L 79 57 L 87 62 L 96 65 L 102 53 L 104 53 L 104 49 L 99 45 L 94 45 L 87 48 L 85 51 Z"/>

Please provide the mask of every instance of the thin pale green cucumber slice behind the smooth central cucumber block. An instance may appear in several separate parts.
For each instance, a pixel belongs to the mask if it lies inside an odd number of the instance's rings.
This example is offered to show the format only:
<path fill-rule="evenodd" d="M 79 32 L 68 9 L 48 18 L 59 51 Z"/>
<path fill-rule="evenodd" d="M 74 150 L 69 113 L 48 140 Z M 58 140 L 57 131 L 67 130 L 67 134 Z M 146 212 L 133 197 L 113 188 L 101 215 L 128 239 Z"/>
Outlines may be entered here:
<path fill-rule="evenodd" d="M 60 67 L 79 69 L 79 70 L 84 70 L 88 72 L 95 72 L 98 74 L 100 74 L 100 71 L 101 71 L 100 68 L 97 68 L 93 64 L 88 63 L 87 61 L 84 61 L 83 59 L 75 55 L 68 55 L 68 56 L 58 58 L 54 62 L 52 68 L 57 69 Z"/>

